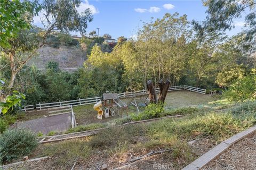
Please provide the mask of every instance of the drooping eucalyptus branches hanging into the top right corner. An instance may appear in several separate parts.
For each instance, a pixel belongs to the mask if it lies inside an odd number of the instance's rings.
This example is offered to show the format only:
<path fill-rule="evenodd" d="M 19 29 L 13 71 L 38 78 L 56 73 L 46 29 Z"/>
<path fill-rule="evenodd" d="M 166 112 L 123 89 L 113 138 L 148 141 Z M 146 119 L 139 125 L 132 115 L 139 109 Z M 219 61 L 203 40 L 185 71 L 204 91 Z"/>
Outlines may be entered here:
<path fill-rule="evenodd" d="M 207 8 L 205 21 L 193 21 L 199 36 L 204 36 L 212 31 L 226 31 L 235 27 L 234 21 L 245 15 L 247 39 L 256 33 L 255 0 L 204 0 Z"/>

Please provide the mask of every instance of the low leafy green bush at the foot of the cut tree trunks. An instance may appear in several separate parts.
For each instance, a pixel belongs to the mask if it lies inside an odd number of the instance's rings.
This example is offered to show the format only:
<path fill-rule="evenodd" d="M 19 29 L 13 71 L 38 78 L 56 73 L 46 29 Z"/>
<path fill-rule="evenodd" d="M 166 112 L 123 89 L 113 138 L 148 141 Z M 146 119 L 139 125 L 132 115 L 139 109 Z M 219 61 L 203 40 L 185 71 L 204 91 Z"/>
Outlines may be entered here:
<path fill-rule="evenodd" d="M 133 121 L 140 121 L 140 120 L 148 120 L 150 118 L 157 118 L 161 117 L 161 114 L 164 112 L 164 105 L 150 103 L 144 112 L 139 113 L 138 115 L 131 114 L 131 118 Z"/>

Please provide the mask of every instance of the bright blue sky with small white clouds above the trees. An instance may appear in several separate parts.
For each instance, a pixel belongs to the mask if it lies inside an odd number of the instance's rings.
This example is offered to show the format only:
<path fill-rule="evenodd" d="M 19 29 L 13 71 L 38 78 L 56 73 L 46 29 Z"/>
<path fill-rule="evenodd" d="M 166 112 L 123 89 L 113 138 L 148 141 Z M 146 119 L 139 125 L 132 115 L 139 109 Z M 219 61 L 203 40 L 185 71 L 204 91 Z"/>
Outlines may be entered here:
<path fill-rule="evenodd" d="M 204 20 L 206 7 L 202 1 L 82 1 L 78 11 L 91 8 L 93 21 L 88 23 L 87 33 L 100 28 L 100 35 L 109 33 L 113 38 L 124 36 L 130 38 L 142 26 L 143 21 L 149 21 L 151 17 L 162 18 L 165 13 L 178 12 L 187 14 L 188 20 Z M 36 25 L 38 17 L 34 19 Z M 242 30 L 243 19 L 235 20 L 236 28 L 227 32 L 235 35 Z M 98 32 L 97 32 L 98 33 Z M 72 35 L 79 33 L 71 32 Z"/>

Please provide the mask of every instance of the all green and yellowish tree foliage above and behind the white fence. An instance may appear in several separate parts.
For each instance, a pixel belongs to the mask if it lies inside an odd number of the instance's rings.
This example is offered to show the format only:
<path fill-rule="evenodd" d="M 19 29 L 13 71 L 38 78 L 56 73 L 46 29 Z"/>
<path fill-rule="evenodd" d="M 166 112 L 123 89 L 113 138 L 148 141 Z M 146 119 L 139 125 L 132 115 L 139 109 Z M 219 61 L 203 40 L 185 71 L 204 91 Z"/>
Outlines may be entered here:
<path fill-rule="evenodd" d="M 163 18 L 143 22 L 137 38 L 127 40 L 121 36 L 111 45 L 103 39 L 110 38 L 108 34 L 98 37 L 97 32 L 92 31 L 89 37 L 84 36 L 92 15 L 89 9 L 78 13 L 74 7 L 79 6 L 78 1 L 70 1 L 66 7 L 62 1 L 43 1 L 41 12 L 49 14 L 46 15 L 48 19 L 53 14 L 53 20 L 43 22 L 44 29 L 21 29 L 15 37 L 9 37 L 11 47 L 5 47 L 0 54 L 1 78 L 10 80 L 6 90 L 1 91 L 1 100 L 13 90 L 27 96 L 26 104 L 94 97 L 106 91 L 145 89 L 149 79 L 155 86 L 159 80 L 169 79 L 171 86 L 189 84 L 209 90 L 222 88 L 228 90 L 225 95 L 231 101 L 254 99 L 256 38 L 252 26 L 255 26 L 255 3 L 228 2 L 205 1 L 209 15 L 204 25 L 189 22 L 187 15 L 166 13 Z M 219 32 L 231 29 L 233 19 L 231 23 L 227 22 L 226 15 L 236 18 L 247 6 L 252 9 L 246 16 L 246 28 L 250 27 L 250 30 L 245 29 L 233 37 Z M 30 10 L 31 15 L 36 12 L 34 8 Z M 220 13 L 218 21 L 213 17 L 216 13 Z M 23 19 L 23 16 L 18 18 Z M 207 30 L 203 29 L 207 25 Z M 68 31 L 79 31 L 83 37 L 74 39 Z M 198 36 L 198 31 L 205 34 Z M 26 66 L 43 45 L 81 48 L 87 55 L 84 67 L 68 73 L 52 61 L 45 71 Z"/>

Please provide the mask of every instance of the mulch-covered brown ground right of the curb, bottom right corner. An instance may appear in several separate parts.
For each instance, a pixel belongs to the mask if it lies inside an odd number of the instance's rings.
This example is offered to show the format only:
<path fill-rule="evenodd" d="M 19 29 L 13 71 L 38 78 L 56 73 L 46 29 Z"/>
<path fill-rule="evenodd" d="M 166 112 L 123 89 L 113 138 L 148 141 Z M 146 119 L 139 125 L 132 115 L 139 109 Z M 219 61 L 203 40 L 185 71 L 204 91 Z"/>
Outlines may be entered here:
<path fill-rule="evenodd" d="M 256 169 L 256 133 L 235 143 L 203 169 Z"/>

